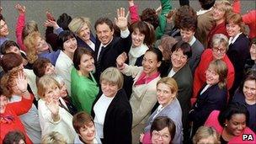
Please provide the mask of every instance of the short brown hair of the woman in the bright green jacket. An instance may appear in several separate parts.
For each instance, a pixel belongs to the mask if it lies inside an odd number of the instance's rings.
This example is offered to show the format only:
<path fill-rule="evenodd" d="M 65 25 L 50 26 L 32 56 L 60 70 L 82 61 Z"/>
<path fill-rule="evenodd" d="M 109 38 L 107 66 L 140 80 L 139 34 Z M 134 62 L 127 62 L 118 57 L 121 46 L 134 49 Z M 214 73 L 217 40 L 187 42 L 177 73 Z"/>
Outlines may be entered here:
<path fill-rule="evenodd" d="M 77 70 L 80 70 L 79 65 L 83 55 L 93 56 L 93 51 L 89 51 L 85 47 L 77 47 L 73 57 L 73 64 Z"/>

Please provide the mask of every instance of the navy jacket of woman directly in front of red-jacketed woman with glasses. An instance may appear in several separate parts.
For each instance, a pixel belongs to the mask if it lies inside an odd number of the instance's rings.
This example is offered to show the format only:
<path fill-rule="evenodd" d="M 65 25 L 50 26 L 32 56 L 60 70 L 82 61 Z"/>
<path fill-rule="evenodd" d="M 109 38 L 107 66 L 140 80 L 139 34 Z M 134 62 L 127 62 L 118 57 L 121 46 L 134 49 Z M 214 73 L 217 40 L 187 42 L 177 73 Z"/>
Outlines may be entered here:
<path fill-rule="evenodd" d="M 189 120 L 193 121 L 194 130 L 196 131 L 213 110 L 221 110 L 227 104 L 227 88 L 219 88 L 218 84 L 207 88 L 204 93 L 200 94 L 205 85 L 198 93 L 198 99 L 189 113 Z"/>

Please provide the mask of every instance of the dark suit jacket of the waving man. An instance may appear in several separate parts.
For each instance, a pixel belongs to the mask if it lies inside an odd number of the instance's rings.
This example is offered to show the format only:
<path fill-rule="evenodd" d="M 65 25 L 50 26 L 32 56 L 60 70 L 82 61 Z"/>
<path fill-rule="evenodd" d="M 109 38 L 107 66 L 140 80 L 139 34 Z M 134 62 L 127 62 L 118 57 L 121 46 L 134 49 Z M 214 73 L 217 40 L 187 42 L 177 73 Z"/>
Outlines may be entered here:
<path fill-rule="evenodd" d="M 126 52 L 128 53 L 131 46 L 125 45 L 127 42 L 125 40 L 129 40 L 129 36 L 125 39 L 122 39 L 120 37 L 115 37 L 113 40 L 107 45 L 104 49 L 105 51 L 102 53 L 102 58 L 101 61 L 97 61 L 97 56 L 99 51 L 99 46 L 100 46 L 100 41 L 97 37 L 96 39 L 96 44 L 95 44 L 95 53 L 94 53 L 94 60 L 95 64 L 100 65 L 99 68 L 96 67 L 96 72 L 95 72 L 95 79 L 96 81 L 99 82 L 99 76 L 101 72 L 103 72 L 106 68 L 108 67 L 116 67 L 116 58 L 122 53 Z"/>

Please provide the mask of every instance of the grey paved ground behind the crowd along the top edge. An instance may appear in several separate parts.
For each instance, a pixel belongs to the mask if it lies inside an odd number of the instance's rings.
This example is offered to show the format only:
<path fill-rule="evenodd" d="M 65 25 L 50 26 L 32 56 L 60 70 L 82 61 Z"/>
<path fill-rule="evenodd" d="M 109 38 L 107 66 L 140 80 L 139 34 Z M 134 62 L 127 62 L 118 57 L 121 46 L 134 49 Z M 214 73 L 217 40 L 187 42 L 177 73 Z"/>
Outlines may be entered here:
<path fill-rule="evenodd" d="M 26 18 L 28 20 L 35 20 L 39 24 L 39 29 L 42 34 L 45 33 L 43 22 L 45 21 L 45 11 L 53 13 L 57 19 L 61 13 L 68 13 L 73 17 L 85 16 L 91 19 L 92 24 L 99 17 L 115 18 L 116 8 L 128 7 L 128 3 L 125 0 L 112 0 L 112 1 L 41 1 L 41 0 L 1 0 L 1 7 L 3 7 L 3 16 L 8 23 L 10 35 L 9 39 L 15 40 L 15 24 L 18 17 L 18 12 L 14 8 L 16 3 L 20 3 L 26 7 Z M 157 8 L 160 2 L 157 0 L 138 0 L 135 1 L 139 5 L 139 12 L 144 8 Z M 173 8 L 179 8 L 179 1 L 173 1 Z M 197 0 L 190 0 L 190 6 L 198 10 L 200 5 Z M 247 10 L 255 8 L 255 0 L 242 0 L 242 13 L 246 13 Z M 94 30 L 94 29 L 93 29 Z"/>

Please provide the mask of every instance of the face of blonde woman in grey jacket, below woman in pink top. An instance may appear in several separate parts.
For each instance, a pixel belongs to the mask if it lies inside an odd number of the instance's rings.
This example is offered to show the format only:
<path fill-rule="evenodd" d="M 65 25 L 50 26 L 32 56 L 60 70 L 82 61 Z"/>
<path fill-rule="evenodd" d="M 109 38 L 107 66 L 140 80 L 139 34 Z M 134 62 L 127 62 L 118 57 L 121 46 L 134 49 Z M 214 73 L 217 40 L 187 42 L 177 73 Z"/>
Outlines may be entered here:
<path fill-rule="evenodd" d="M 175 96 L 176 93 L 173 93 L 167 84 L 159 83 L 157 85 L 157 101 L 163 107 L 170 104 Z"/>

